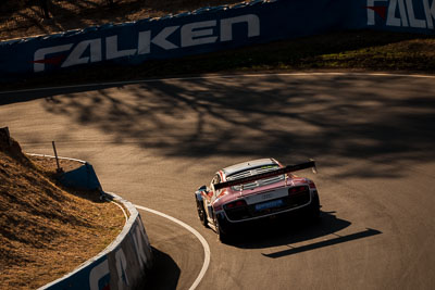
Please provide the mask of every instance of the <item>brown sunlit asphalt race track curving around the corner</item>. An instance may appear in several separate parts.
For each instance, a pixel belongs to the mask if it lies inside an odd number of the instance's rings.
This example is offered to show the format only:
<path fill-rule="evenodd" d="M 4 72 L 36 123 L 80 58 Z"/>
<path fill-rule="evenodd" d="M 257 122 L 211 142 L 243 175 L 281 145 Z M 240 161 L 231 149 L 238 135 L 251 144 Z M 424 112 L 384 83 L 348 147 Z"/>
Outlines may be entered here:
<path fill-rule="evenodd" d="M 214 76 L 0 94 L 0 126 L 26 152 L 87 160 L 103 188 L 173 216 L 210 244 L 197 289 L 433 289 L 435 78 L 370 74 Z M 220 167 L 318 161 L 321 223 L 272 224 L 221 244 L 194 191 Z M 150 287 L 188 289 L 203 249 L 141 212 Z M 272 220 L 273 222 L 273 220 Z"/>

